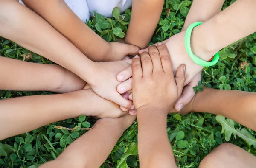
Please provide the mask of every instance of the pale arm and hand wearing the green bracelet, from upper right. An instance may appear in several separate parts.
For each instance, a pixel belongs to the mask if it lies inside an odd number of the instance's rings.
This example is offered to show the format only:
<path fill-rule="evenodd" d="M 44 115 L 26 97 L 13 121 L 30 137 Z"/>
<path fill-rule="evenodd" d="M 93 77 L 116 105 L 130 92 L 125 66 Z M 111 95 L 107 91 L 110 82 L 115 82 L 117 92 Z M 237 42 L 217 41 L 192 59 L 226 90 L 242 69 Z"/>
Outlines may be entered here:
<path fill-rule="evenodd" d="M 193 29 L 191 37 L 191 47 L 193 53 L 201 59 L 209 60 L 214 54 L 236 42 L 237 40 L 252 34 L 256 31 L 256 22 L 251 23 L 256 14 L 255 0 L 237 0 L 231 6 L 221 11 L 211 19 Z M 241 20 L 241 22 L 237 22 Z M 163 41 L 172 56 L 172 68 L 175 70 L 180 64 L 186 64 L 186 83 L 202 70 L 186 52 L 185 31 L 175 34 L 169 39 Z M 139 53 L 148 52 L 148 48 L 140 50 Z M 119 76 L 125 76 L 119 79 Z M 131 69 L 118 74 L 119 81 L 124 81 L 132 75 Z M 129 90 L 129 88 L 128 88 Z"/>

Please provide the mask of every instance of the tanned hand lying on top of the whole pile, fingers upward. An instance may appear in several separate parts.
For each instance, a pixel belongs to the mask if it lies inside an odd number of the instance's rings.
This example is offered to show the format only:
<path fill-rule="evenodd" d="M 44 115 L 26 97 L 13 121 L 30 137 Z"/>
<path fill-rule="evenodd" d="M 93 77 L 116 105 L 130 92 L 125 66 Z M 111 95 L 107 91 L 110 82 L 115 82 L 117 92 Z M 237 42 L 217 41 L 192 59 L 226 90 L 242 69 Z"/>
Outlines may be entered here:
<path fill-rule="evenodd" d="M 132 62 L 132 97 L 135 109 L 157 108 L 166 114 L 180 97 L 185 82 L 185 65 L 177 68 L 176 77 L 166 46 L 159 43 L 141 53 Z M 141 60 L 141 61 L 140 61 Z"/>

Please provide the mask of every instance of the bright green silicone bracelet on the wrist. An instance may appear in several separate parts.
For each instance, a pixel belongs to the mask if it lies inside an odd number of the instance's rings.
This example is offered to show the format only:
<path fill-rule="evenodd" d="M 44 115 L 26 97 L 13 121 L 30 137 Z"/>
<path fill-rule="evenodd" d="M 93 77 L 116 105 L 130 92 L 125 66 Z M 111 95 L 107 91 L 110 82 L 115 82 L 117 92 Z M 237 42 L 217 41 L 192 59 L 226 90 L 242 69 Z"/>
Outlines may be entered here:
<path fill-rule="evenodd" d="M 191 39 L 192 30 L 193 30 L 193 28 L 195 28 L 196 26 L 201 25 L 201 24 L 202 24 L 202 22 L 195 22 L 195 23 L 192 23 L 191 25 L 189 25 L 189 27 L 186 30 L 186 34 L 185 34 L 185 48 L 186 48 L 186 51 L 189 54 L 190 58 L 193 60 L 193 62 L 195 62 L 196 64 L 201 65 L 203 67 L 210 67 L 210 66 L 217 64 L 218 60 L 220 59 L 219 52 L 214 55 L 212 61 L 207 62 L 207 61 L 204 61 L 204 60 L 198 58 L 197 56 L 195 56 L 191 50 L 190 39 Z"/>

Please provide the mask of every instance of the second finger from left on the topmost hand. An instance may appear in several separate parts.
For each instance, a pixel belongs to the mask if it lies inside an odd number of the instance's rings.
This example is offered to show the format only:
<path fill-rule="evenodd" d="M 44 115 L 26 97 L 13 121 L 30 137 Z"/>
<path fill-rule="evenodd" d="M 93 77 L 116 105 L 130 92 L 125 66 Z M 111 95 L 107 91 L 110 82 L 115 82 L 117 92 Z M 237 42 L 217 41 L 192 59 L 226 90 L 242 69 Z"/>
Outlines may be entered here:
<path fill-rule="evenodd" d="M 149 76 L 152 75 L 153 71 L 153 64 L 151 61 L 151 58 L 148 53 L 141 53 L 140 54 L 140 59 L 141 59 L 141 65 L 142 65 L 142 71 L 143 71 L 143 76 Z"/>

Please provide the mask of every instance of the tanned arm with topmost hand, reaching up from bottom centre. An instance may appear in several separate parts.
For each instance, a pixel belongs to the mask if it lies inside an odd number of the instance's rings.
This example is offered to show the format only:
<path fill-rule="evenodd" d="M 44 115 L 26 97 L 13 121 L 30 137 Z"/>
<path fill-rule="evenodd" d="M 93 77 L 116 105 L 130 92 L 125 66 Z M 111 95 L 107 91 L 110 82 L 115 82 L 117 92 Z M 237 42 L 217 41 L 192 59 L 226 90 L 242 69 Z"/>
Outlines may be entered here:
<path fill-rule="evenodd" d="M 132 62 L 133 102 L 137 109 L 138 150 L 141 168 L 174 168 L 167 130 L 167 114 L 180 97 L 185 82 L 185 66 L 174 78 L 172 62 L 165 45 L 149 47 L 149 54 L 135 56 Z M 142 65 L 141 65 L 142 64 Z"/>

